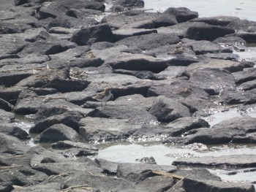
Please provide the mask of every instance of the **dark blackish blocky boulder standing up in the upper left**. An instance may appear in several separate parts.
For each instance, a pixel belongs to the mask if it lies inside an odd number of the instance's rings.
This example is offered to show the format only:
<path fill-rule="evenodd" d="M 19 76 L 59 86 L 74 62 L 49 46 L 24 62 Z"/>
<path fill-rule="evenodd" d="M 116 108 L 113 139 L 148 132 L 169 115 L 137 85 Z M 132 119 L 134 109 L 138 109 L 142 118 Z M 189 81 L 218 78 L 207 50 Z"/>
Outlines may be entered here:
<path fill-rule="evenodd" d="M 107 24 L 101 24 L 75 31 L 70 41 L 78 45 L 91 45 L 94 42 L 113 42 L 113 33 Z"/>

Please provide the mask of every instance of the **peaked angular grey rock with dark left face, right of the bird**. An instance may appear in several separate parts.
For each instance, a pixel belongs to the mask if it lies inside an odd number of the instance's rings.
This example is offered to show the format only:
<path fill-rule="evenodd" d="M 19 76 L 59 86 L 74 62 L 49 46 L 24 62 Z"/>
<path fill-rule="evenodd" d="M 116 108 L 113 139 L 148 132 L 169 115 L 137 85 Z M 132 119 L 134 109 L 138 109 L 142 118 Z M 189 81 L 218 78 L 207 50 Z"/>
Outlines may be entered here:
<path fill-rule="evenodd" d="M 158 96 L 148 112 L 162 122 L 170 122 L 178 118 L 190 117 L 187 107 L 165 96 Z"/>

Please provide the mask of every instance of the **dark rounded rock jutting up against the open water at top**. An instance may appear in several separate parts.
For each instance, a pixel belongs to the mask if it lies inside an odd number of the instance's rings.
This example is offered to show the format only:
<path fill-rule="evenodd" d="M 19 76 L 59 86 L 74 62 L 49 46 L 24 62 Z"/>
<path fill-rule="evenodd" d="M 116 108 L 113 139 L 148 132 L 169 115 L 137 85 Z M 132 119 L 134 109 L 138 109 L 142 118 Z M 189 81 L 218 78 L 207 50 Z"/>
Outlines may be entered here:
<path fill-rule="evenodd" d="M 186 22 L 198 17 L 197 12 L 193 12 L 186 7 L 170 7 L 166 9 L 164 13 L 175 15 L 178 23 Z"/>

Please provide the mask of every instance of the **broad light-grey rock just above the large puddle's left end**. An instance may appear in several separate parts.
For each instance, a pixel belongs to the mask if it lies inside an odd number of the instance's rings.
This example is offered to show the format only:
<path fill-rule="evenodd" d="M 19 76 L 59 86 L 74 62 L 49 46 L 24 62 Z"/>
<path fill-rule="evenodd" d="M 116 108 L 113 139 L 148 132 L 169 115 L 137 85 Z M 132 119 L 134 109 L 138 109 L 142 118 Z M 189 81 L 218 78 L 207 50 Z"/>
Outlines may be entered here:
<path fill-rule="evenodd" d="M 113 142 L 126 140 L 135 130 L 143 128 L 142 124 L 129 123 L 129 117 L 124 118 L 83 118 L 79 122 L 80 134 L 88 142 Z"/>

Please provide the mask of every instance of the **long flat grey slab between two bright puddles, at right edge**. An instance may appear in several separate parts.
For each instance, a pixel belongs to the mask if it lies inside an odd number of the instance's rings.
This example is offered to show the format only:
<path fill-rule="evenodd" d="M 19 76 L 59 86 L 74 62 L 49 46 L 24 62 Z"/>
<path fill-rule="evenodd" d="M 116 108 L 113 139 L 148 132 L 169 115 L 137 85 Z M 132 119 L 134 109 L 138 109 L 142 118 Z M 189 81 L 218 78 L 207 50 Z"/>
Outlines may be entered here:
<path fill-rule="evenodd" d="M 219 168 L 246 168 L 256 166 L 256 155 L 222 155 L 204 156 L 197 158 L 178 158 L 173 161 L 175 166 L 199 166 L 199 167 L 219 167 Z"/>

